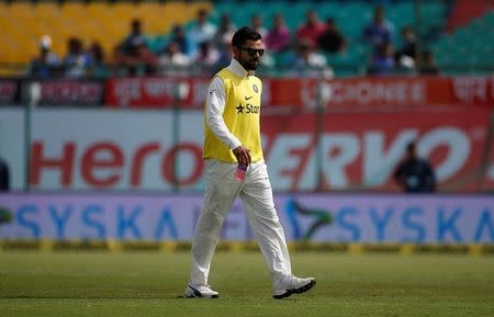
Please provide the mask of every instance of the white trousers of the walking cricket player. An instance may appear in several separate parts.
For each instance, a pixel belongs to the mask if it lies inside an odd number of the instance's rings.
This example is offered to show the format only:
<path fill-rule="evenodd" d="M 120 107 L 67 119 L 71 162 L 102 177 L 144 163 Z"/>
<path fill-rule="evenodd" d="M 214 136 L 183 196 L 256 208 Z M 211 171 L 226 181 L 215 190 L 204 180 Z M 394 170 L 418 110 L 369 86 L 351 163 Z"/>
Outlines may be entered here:
<path fill-rule="evenodd" d="M 283 228 L 274 210 L 266 163 L 251 163 L 243 182 L 235 179 L 236 168 L 236 163 L 206 160 L 207 184 L 192 241 L 191 284 L 207 285 L 220 230 L 237 196 L 240 196 L 254 237 L 272 278 L 291 274 L 290 256 Z"/>

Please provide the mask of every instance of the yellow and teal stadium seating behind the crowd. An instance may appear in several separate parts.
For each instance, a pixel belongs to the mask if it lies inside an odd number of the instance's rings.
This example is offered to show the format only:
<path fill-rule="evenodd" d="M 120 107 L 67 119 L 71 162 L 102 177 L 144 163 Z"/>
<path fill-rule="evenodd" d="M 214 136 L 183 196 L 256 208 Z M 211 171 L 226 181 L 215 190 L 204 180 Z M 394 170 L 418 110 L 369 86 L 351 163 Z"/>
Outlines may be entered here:
<path fill-rule="evenodd" d="M 461 7 L 465 1 L 458 1 Z M 141 19 L 144 32 L 149 36 L 149 49 L 155 54 L 164 50 L 176 24 L 191 25 L 200 9 L 210 11 L 210 21 L 216 25 L 223 14 L 229 14 L 236 26 L 250 24 L 254 13 L 261 15 L 267 29 L 271 27 L 274 13 L 284 16 L 292 34 L 315 9 L 322 21 L 333 18 L 347 38 L 343 54 L 324 54 L 337 77 L 363 75 L 372 55 L 362 42 L 361 32 L 372 19 L 375 3 L 384 3 L 386 19 L 394 25 L 393 46 L 400 47 L 401 31 L 412 26 L 422 38 L 422 49 L 431 50 L 439 67 L 446 72 L 491 72 L 489 59 L 493 55 L 494 14 L 492 7 L 479 10 L 468 22 L 458 18 L 462 26 L 444 35 L 451 22 L 450 12 L 458 12 L 452 1 L 420 1 L 420 19 L 416 21 L 414 1 L 339 0 L 339 1 L 5 1 L 0 2 L 1 65 L 26 65 L 36 55 L 41 36 L 53 38 L 52 52 L 66 55 L 67 39 L 77 36 L 85 46 L 92 42 L 101 44 L 106 63 L 113 63 L 114 47 L 128 32 L 130 22 Z M 238 10 L 242 8 L 242 10 Z M 478 8 L 476 8 L 478 9 Z M 457 15 L 459 13 L 456 13 Z M 467 24 L 465 24 L 467 23 Z M 486 32 L 487 31 L 487 32 Z M 479 34 L 482 34 L 480 36 Z M 285 53 L 273 55 L 273 67 L 283 67 Z M 9 67 L 7 67 L 9 68 Z M 8 75 L 1 67 L 1 75 Z"/>

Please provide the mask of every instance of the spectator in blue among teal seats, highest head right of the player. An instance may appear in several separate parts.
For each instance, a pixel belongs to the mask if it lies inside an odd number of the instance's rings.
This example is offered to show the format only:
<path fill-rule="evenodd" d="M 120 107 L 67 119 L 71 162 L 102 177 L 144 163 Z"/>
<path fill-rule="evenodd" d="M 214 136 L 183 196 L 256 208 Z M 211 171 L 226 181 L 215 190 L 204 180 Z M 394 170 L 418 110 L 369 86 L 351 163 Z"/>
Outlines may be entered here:
<path fill-rule="evenodd" d="M 394 26 L 385 19 L 384 7 L 375 7 L 373 21 L 362 31 L 363 41 L 379 49 L 384 43 L 392 43 L 393 34 Z"/>

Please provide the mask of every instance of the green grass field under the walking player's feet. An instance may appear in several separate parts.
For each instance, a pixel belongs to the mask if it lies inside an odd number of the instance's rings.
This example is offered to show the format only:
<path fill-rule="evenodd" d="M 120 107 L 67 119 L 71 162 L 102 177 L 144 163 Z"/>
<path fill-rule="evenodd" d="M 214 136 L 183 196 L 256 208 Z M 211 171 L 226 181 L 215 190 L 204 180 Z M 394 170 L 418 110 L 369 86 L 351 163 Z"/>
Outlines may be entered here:
<path fill-rule="evenodd" d="M 180 298 L 188 252 L 0 253 L 0 316 L 494 316 L 494 257 L 292 253 L 311 292 L 271 298 L 258 252 L 218 252 L 218 299 Z"/>

